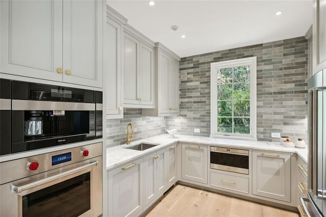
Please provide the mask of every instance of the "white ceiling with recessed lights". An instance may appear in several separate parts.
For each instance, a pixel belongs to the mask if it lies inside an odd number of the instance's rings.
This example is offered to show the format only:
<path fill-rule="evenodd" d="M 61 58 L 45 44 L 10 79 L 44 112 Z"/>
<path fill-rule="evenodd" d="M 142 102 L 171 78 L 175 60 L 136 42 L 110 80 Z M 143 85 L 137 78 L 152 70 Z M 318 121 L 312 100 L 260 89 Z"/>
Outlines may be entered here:
<path fill-rule="evenodd" d="M 180 57 L 304 36 L 312 0 L 107 1 L 128 24 Z M 279 16 L 276 12 L 283 11 Z M 178 25 L 179 30 L 171 30 Z M 185 35 L 185 38 L 181 38 Z"/>

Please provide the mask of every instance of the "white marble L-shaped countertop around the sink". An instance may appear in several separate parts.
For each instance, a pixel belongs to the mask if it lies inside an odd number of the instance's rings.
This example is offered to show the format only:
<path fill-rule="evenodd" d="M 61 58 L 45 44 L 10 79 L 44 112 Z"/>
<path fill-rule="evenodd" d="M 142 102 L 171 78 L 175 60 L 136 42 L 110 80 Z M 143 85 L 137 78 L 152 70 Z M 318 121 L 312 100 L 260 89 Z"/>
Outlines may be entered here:
<path fill-rule="evenodd" d="M 137 151 L 132 149 L 126 149 L 132 145 L 146 142 L 149 144 L 159 144 L 153 148 L 149 148 L 144 151 Z M 156 135 L 155 137 L 138 140 L 132 142 L 130 145 L 119 145 L 106 149 L 106 170 L 113 169 L 121 166 L 122 164 L 142 157 L 155 150 L 165 148 L 175 142 L 186 142 L 186 143 L 198 143 L 202 145 L 218 145 L 233 148 L 248 148 L 248 149 L 259 149 L 266 151 L 278 151 L 296 153 L 298 156 L 303 158 L 306 162 L 308 161 L 308 149 L 307 147 L 302 148 L 285 148 L 279 143 L 263 142 L 263 141 L 246 141 L 246 140 L 231 140 L 231 139 L 220 139 L 210 137 L 196 137 L 193 135 L 175 135 L 175 138 L 170 138 L 169 134 Z"/>

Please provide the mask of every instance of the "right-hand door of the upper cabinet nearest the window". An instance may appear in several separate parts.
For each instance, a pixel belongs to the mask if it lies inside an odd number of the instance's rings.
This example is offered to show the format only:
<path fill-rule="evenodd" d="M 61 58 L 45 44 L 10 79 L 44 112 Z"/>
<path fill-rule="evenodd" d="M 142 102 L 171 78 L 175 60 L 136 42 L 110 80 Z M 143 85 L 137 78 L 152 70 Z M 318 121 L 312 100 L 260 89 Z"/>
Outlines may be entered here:
<path fill-rule="evenodd" d="M 179 113 L 179 63 L 173 59 L 169 65 L 169 110 Z"/>

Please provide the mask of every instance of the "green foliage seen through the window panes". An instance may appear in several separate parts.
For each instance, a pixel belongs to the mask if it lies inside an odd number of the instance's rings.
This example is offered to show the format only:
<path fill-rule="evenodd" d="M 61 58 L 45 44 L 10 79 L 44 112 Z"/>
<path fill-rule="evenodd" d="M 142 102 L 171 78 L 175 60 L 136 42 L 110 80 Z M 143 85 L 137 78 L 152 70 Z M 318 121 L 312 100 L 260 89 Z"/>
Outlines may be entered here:
<path fill-rule="evenodd" d="M 217 72 L 218 132 L 250 134 L 250 67 Z"/>

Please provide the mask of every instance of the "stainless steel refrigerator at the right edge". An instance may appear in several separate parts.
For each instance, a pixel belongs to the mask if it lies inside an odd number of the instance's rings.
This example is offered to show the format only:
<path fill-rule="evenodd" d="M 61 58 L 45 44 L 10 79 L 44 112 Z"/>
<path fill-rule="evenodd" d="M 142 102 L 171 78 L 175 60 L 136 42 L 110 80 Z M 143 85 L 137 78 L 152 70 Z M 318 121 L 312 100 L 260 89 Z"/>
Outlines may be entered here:
<path fill-rule="evenodd" d="M 326 216 L 326 69 L 308 80 L 308 194 L 301 202 L 308 216 Z"/>

